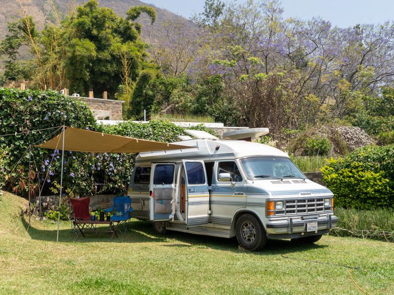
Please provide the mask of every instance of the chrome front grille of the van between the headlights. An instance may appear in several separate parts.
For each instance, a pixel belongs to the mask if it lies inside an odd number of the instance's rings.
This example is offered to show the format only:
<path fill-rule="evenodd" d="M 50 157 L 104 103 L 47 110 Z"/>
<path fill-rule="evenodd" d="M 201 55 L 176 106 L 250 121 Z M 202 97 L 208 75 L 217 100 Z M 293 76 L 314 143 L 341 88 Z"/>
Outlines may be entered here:
<path fill-rule="evenodd" d="M 331 198 L 331 197 L 327 197 Z M 324 206 L 323 198 L 285 200 L 284 210 L 276 210 L 277 214 L 307 214 L 331 211 L 331 206 Z"/>

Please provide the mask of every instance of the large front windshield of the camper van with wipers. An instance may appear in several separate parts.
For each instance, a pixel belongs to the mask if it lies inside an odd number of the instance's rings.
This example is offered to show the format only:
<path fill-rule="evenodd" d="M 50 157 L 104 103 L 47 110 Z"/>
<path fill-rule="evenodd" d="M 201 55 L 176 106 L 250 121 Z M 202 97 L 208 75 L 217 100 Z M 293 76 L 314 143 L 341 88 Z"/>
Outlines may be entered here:
<path fill-rule="evenodd" d="M 249 179 L 263 178 L 302 178 L 305 176 L 288 158 L 253 157 L 241 160 L 243 169 Z"/>

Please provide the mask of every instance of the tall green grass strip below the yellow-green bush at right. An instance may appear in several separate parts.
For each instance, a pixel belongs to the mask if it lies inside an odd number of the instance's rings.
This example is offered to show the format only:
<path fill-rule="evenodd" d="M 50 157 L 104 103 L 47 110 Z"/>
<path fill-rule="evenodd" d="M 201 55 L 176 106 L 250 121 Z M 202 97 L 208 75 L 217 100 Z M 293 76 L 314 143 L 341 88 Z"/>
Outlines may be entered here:
<path fill-rule="evenodd" d="M 335 208 L 337 228 L 330 234 L 335 236 L 371 237 L 394 242 L 394 209 L 357 210 Z M 383 233 L 384 232 L 384 233 Z"/>

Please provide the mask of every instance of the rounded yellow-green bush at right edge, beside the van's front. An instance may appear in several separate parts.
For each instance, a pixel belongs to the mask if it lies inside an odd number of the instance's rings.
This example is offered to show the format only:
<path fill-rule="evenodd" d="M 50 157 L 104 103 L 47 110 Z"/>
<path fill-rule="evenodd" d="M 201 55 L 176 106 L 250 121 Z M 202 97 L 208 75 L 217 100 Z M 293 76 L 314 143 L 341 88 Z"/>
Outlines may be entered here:
<path fill-rule="evenodd" d="M 394 206 L 394 146 L 367 146 L 322 168 L 338 207 L 372 209 Z"/>

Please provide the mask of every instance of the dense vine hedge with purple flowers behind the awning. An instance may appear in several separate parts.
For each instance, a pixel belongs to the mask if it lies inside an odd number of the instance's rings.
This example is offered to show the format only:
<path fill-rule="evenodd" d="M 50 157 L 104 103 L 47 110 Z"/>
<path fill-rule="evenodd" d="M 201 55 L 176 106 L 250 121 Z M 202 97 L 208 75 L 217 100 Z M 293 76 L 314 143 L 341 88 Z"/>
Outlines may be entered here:
<path fill-rule="evenodd" d="M 28 132 L 63 124 L 161 142 L 177 141 L 177 136 L 184 134 L 184 128 L 164 121 L 149 123 L 127 121 L 118 125 L 98 125 L 86 104 L 65 97 L 58 92 L 0 88 L 0 134 L 12 134 L 0 137 L 0 151 L 10 152 L 6 167 L 4 167 L 4 175 L 10 174 L 29 145 L 48 137 L 56 129 L 16 136 L 15 132 Z M 203 126 L 190 129 L 212 133 L 210 129 Z M 70 195 L 125 191 L 129 184 L 134 158 L 135 154 L 95 154 L 66 151 L 64 161 L 65 191 Z M 34 183 L 31 188 L 32 195 L 34 196 L 38 189 L 37 172 L 40 172 L 41 181 L 45 181 L 46 190 L 50 189 L 52 193 L 57 193 L 60 182 L 61 152 L 35 148 L 32 152 L 32 161 L 30 173 Z M 28 167 L 28 155 L 25 154 L 11 176 L 7 178 L 5 188 L 26 196 L 29 191 L 27 186 Z"/>

